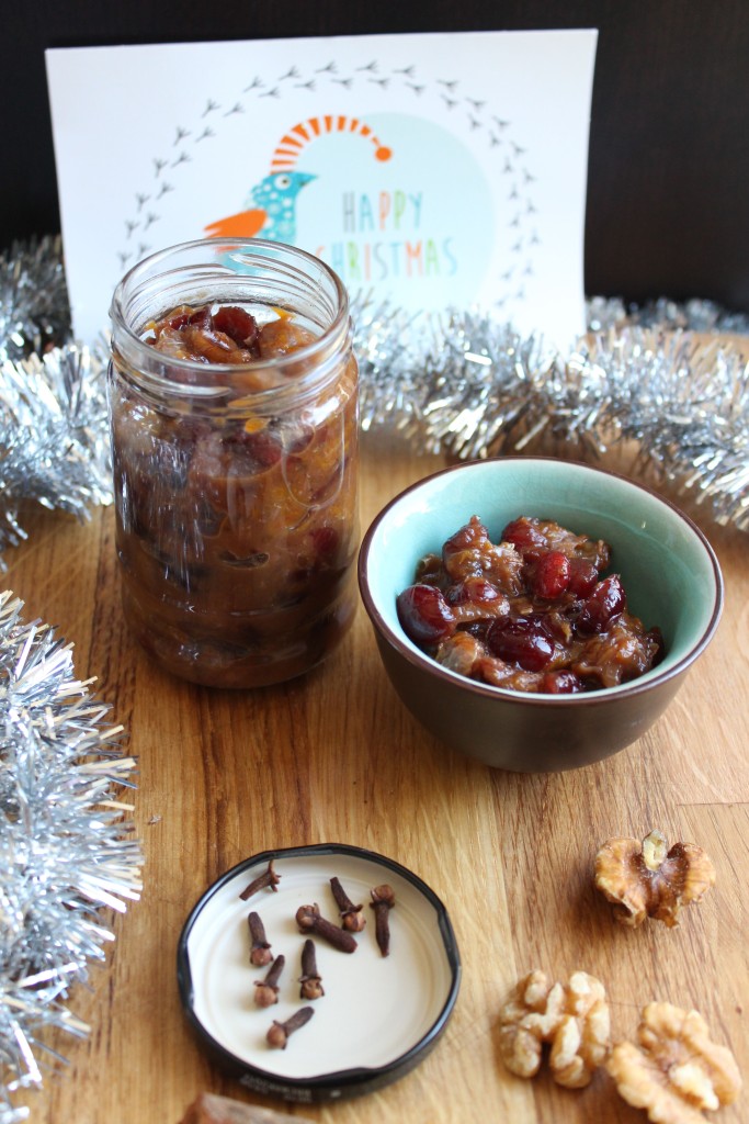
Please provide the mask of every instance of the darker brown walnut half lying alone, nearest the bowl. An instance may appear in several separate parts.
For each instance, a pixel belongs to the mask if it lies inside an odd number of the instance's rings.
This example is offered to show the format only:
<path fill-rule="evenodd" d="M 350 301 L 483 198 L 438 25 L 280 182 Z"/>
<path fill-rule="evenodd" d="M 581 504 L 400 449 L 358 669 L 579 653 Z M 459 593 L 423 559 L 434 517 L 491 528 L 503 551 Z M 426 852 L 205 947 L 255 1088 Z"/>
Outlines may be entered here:
<path fill-rule="evenodd" d="M 595 856 L 595 885 L 616 906 L 622 925 L 641 925 L 647 917 L 678 925 L 682 906 L 700 900 L 715 881 L 715 868 L 702 847 L 675 843 L 651 831 L 642 842 L 611 839 Z"/>

